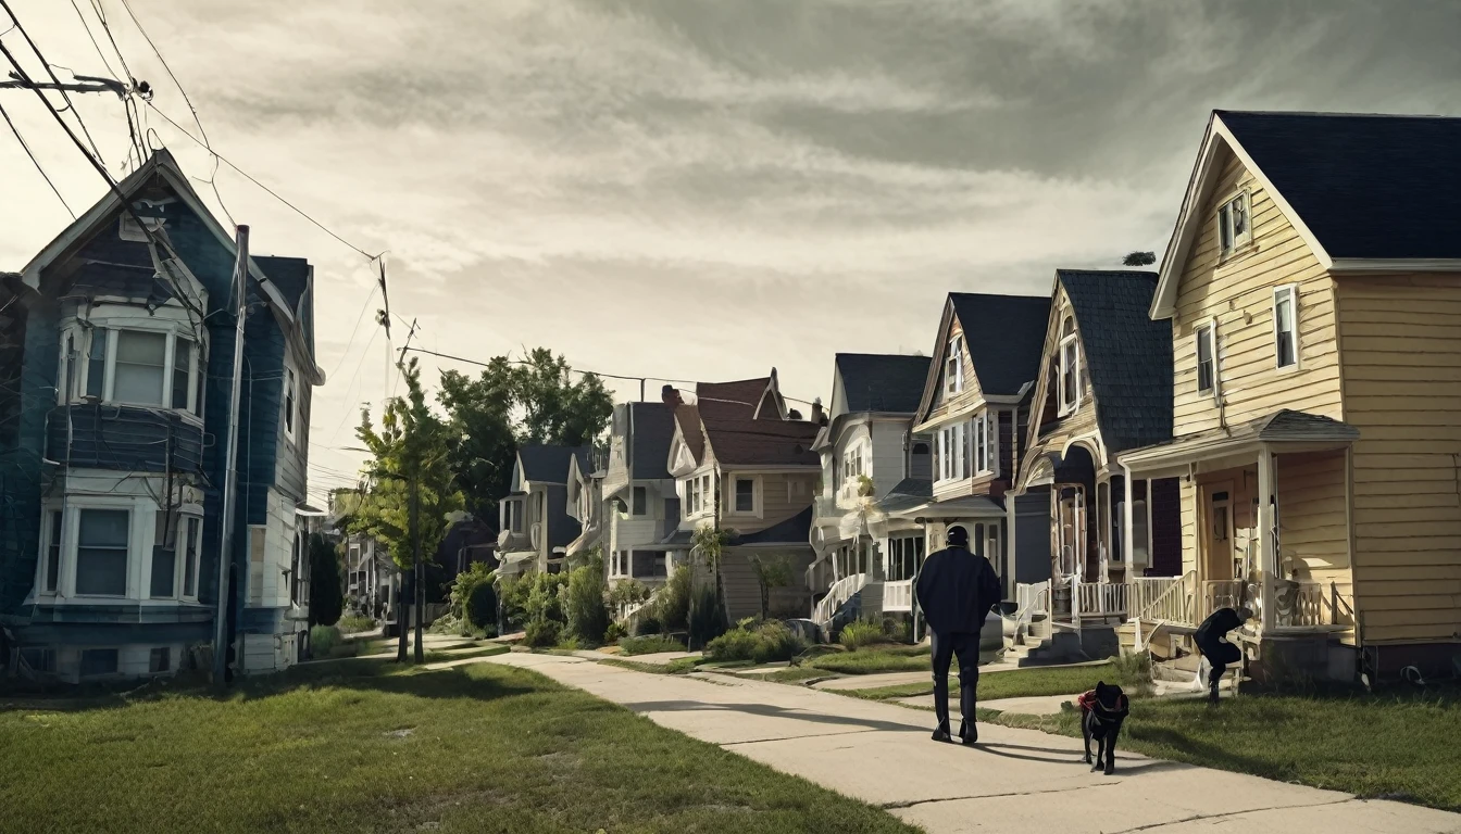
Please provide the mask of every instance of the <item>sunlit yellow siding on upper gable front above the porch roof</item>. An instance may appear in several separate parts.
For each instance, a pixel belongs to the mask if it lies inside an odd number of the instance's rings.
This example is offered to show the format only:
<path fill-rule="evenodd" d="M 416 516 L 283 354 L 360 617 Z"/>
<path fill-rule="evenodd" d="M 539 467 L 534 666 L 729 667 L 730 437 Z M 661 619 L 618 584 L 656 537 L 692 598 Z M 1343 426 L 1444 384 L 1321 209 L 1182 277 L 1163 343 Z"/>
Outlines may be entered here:
<path fill-rule="evenodd" d="M 1220 263 L 1217 207 L 1249 193 L 1254 238 Z M 1334 288 L 1267 190 L 1227 153 L 1178 285 L 1173 333 L 1173 434 L 1180 437 L 1294 409 L 1341 419 Z M 1273 289 L 1296 283 L 1299 370 L 1274 367 Z M 1197 390 L 1194 327 L 1217 320 L 1218 390 Z"/>

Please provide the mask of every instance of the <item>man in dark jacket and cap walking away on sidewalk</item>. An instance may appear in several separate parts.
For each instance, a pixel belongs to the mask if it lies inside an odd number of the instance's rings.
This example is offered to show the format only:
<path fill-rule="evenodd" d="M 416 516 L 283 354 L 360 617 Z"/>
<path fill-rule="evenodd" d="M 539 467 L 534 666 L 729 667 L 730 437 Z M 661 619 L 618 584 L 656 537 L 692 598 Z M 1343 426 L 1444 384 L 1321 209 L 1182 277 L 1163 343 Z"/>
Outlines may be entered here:
<path fill-rule="evenodd" d="M 958 739 L 979 741 L 974 700 L 979 686 L 979 631 L 985 615 L 1002 596 L 989 559 L 969 552 L 969 530 L 948 529 L 948 548 L 928 556 L 918 575 L 918 605 L 934 632 L 934 741 L 954 741 L 948 732 L 948 666 L 958 657 Z"/>

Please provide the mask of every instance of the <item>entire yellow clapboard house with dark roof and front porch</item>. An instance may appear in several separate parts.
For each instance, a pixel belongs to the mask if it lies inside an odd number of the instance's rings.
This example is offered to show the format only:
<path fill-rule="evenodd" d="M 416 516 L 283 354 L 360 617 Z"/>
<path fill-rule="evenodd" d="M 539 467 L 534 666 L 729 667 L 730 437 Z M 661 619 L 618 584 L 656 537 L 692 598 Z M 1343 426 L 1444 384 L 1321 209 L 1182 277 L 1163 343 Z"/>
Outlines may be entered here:
<path fill-rule="evenodd" d="M 1461 118 L 1214 111 L 1150 315 L 1170 318 L 1185 583 L 1251 656 L 1349 678 L 1461 654 Z M 1175 624 L 1175 625 L 1164 625 Z"/>

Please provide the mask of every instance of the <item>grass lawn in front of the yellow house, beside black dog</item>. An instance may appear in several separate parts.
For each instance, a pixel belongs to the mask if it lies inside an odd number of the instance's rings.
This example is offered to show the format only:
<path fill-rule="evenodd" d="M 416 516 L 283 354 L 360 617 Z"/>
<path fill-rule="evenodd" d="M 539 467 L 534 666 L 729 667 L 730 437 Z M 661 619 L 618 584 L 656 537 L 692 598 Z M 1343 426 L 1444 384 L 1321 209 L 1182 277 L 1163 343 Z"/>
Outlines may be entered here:
<path fill-rule="evenodd" d="M 991 675 L 999 678 L 1001 675 Z M 983 679 L 979 681 L 983 688 Z M 1074 711 L 996 716 L 1078 736 Z M 1119 746 L 1151 757 L 1461 811 L 1461 688 L 1424 692 L 1132 700 Z"/>

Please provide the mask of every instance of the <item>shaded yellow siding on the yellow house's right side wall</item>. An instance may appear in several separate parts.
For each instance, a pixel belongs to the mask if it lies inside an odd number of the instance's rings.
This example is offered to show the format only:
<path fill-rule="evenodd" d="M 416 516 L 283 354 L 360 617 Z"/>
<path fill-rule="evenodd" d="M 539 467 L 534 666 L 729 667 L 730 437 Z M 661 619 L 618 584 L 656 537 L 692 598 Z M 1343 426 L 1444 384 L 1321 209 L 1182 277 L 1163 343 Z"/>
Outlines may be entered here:
<path fill-rule="evenodd" d="M 1365 640 L 1461 640 L 1461 276 L 1346 276 L 1337 297 Z"/>

